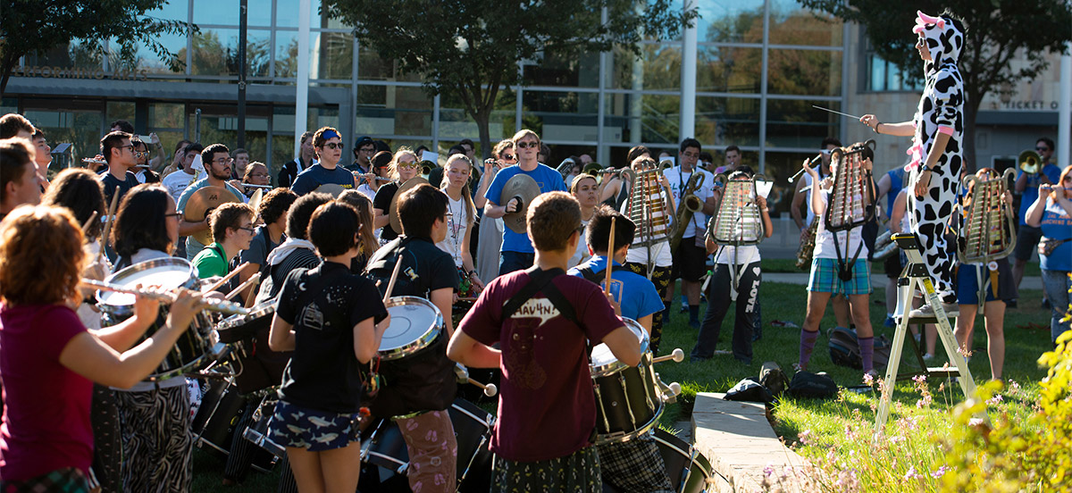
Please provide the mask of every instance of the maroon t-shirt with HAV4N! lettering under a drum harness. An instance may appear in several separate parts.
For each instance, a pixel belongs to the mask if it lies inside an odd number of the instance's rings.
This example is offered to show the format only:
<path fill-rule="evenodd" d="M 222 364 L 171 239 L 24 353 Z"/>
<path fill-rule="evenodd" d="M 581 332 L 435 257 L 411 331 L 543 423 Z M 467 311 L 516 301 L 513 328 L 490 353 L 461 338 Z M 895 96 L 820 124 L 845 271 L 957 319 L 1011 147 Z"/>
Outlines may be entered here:
<path fill-rule="evenodd" d="M 559 314 L 542 293 L 503 320 L 503 304 L 528 283 L 524 271 L 492 281 L 459 326 L 480 343 L 501 343 L 503 378 L 491 451 L 515 462 L 561 458 L 591 445 L 596 405 L 585 339 L 599 344 L 625 326 L 595 284 L 572 275 L 552 282 L 583 327 Z"/>

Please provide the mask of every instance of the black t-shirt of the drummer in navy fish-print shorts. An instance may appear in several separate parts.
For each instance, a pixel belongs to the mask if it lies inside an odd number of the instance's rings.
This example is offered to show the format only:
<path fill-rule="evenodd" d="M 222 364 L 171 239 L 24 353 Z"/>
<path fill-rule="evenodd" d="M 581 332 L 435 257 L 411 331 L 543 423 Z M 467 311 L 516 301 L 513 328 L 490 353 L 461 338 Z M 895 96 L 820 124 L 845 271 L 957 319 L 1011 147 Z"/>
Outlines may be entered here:
<path fill-rule="evenodd" d="M 321 282 L 322 277 L 329 277 Z M 306 289 L 313 293 L 300 304 Z M 361 363 L 354 355 L 354 326 L 387 317 L 379 292 L 349 267 L 324 263 L 291 272 L 276 315 L 294 325 L 295 348 L 279 395 L 286 402 L 329 413 L 357 413 Z"/>

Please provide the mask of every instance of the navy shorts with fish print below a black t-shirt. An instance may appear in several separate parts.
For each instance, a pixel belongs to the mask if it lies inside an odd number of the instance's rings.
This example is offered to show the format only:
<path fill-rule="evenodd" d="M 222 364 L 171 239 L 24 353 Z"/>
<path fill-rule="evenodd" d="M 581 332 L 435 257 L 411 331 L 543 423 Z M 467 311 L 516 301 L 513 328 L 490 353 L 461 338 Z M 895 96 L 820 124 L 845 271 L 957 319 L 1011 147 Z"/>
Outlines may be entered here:
<path fill-rule="evenodd" d="M 271 418 L 271 438 L 283 447 L 310 452 L 333 450 L 360 440 L 358 420 L 357 413 L 326 413 L 279 401 Z"/>

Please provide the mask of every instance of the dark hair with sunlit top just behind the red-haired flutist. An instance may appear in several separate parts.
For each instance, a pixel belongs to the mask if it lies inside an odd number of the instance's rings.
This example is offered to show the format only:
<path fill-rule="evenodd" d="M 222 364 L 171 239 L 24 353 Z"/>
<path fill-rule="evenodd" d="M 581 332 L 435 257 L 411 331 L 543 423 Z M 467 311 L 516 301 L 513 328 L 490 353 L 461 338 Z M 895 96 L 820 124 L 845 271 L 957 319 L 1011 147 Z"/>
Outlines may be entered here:
<path fill-rule="evenodd" d="M 104 225 L 102 220 L 107 215 L 107 209 L 104 205 L 104 184 L 93 171 L 86 168 L 66 168 L 60 171 L 48 185 L 41 204 L 66 207 L 74 214 L 75 221 L 83 225 L 96 212 L 96 218 L 86 226 L 85 234 L 89 238 L 101 235 Z"/>

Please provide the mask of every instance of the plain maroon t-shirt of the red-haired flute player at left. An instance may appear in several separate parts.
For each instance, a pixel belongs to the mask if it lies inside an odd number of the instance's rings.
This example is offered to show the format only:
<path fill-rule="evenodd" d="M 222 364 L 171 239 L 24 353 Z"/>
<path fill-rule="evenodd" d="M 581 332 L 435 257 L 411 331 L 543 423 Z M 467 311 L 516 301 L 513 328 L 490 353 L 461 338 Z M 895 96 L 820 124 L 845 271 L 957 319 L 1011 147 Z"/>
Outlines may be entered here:
<path fill-rule="evenodd" d="M 56 304 L 0 304 L 0 477 L 20 481 L 63 467 L 89 470 L 93 384 L 60 364 L 60 353 L 86 331 Z"/>

